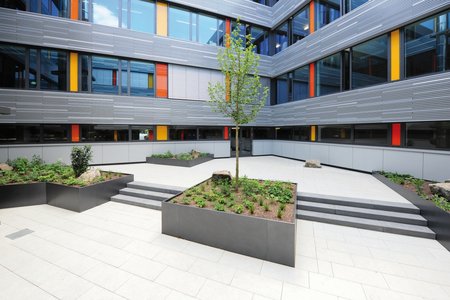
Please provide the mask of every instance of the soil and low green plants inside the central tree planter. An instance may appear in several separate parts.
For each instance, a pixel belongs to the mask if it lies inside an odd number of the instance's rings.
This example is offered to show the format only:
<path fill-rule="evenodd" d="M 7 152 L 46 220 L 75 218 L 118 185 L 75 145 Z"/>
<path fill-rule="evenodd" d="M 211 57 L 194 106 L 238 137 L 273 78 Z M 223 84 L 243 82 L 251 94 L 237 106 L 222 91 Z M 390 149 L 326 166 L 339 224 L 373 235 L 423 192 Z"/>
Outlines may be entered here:
<path fill-rule="evenodd" d="M 228 181 L 208 179 L 171 201 L 180 205 L 293 222 L 297 186 L 289 182 L 242 178 L 239 190 Z"/>

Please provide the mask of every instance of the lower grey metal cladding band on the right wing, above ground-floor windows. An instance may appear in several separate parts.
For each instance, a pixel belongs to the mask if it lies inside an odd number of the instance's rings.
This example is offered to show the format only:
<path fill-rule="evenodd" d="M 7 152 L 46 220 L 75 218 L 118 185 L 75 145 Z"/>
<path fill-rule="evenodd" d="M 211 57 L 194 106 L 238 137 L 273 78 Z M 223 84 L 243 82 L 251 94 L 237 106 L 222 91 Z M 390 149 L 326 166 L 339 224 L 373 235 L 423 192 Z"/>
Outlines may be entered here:
<path fill-rule="evenodd" d="M 450 73 L 272 106 L 275 126 L 450 120 Z"/>

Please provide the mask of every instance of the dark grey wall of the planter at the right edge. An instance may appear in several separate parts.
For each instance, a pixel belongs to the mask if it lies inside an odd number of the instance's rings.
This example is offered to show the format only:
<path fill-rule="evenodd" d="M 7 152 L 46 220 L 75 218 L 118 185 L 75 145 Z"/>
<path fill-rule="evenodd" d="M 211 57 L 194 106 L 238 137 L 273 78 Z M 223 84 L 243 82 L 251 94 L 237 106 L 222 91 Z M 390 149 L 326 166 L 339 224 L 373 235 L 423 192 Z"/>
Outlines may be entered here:
<path fill-rule="evenodd" d="M 450 251 L 450 214 L 436 207 L 433 202 L 424 200 L 416 193 L 407 190 L 379 173 L 373 176 L 400 194 L 420 209 L 420 214 L 428 221 L 428 227 L 436 233 L 436 240 Z"/>

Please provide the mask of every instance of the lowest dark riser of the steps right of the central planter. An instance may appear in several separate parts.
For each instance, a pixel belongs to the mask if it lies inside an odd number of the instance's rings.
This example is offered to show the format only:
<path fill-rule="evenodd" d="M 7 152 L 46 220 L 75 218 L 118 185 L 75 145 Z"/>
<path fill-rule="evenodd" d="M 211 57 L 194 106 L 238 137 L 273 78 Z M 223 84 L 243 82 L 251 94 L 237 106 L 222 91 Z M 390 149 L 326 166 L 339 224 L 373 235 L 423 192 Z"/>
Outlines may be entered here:
<path fill-rule="evenodd" d="M 397 228 L 386 228 L 386 227 L 382 227 L 382 226 L 353 223 L 353 222 L 342 221 L 342 220 L 331 220 L 331 219 L 321 218 L 321 217 L 297 215 L 297 219 L 322 222 L 322 223 L 328 223 L 328 224 L 333 224 L 333 225 L 356 227 L 356 228 L 361 228 L 361 229 L 381 231 L 381 232 L 386 232 L 386 233 L 395 233 L 395 234 L 421 237 L 421 238 L 427 238 L 427 239 L 435 239 L 436 238 L 436 236 L 434 234 L 429 234 L 429 233 L 415 232 L 415 231 L 409 231 L 409 230 L 403 230 L 403 229 L 397 229 Z"/>

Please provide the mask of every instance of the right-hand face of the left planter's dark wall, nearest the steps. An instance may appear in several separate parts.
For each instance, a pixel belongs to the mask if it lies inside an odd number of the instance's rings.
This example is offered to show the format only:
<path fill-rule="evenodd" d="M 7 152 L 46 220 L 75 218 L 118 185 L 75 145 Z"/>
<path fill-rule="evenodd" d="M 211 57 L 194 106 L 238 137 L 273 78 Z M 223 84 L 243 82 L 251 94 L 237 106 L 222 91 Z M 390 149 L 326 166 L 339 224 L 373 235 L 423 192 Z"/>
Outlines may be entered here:
<path fill-rule="evenodd" d="M 108 202 L 128 182 L 132 182 L 133 178 L 133 175 L 127 174 L 84 187 L 47 183 L 47 203 L 71 211 L 83 212 Z"/>

